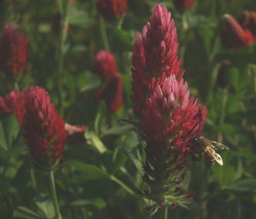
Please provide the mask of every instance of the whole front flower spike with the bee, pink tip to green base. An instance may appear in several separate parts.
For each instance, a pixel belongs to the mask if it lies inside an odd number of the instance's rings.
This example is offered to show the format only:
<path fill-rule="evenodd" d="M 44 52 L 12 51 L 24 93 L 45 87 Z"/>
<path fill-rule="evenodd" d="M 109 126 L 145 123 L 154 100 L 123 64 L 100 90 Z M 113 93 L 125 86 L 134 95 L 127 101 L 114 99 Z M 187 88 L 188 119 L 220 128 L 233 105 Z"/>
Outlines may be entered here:
<path fill-rule="evenodd" d="M 142 110 L 141 134 L 146 141 L 145 174 L 142 180 L 150 190 L 141 195 L 154 200 L 155 208 L 175 205 L 188 197 L 178 195 L 187 176 L 189 141 L 199 128 L 198 103 L 189 98 L 188 84 L 175 75 L 159 83 Z M 165 197 L 169 197 L 167 200 Z"/>

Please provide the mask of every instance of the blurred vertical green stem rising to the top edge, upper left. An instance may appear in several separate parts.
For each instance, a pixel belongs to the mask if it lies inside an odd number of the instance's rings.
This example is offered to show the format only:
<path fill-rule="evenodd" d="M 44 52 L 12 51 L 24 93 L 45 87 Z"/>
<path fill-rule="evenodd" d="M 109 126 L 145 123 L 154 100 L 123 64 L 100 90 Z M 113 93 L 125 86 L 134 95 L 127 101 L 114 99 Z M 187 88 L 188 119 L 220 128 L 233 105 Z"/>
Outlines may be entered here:
<path fill-rule="evenodd" d="M 62 89 L 62 77 L 63 77 L 63 62 L 65 53 L 65 41 L 68 33 L 68 5 L 65 12 L 63 12 L 63 19 L 61 21 L 61 36 L 60 44 L 58 45 L 58 70 L 57 70 L 57 88 L 58 88 L 58 110 L 63 115 L 63 89 Z"/>

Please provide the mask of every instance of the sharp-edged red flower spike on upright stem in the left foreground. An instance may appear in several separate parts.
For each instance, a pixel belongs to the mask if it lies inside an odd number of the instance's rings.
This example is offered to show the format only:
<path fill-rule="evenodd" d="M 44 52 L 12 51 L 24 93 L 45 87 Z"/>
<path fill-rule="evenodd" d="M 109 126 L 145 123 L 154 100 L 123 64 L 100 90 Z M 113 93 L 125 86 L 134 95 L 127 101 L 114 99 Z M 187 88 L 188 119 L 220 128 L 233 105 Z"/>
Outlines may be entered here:
<path fill-rule="evenodd" d="M 62 117 L 41 87 L 28 90 L 25 102 L 23 136 L 38 167 L 52 170 L 64 162 L 68 132 Z"/>

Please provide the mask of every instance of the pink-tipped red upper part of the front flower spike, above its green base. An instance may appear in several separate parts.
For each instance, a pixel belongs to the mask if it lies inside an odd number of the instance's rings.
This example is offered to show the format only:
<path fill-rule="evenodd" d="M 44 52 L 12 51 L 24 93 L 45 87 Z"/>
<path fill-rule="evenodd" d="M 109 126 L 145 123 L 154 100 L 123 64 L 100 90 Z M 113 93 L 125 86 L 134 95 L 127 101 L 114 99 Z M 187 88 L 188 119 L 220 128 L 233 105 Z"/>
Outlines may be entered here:
<path fill-rule="evenodd" d="M 167 151 L 171 147 L 179 152 L 189 150 L 187 143 L 199 128 L 199 118 L 197 101 L 194 97 L 189 99 L 187 82 L 174 75 L 165 78 L 162 86 L 157 84 L 147 98 L 142 113 L 142 136 L 149 143 L 147 147 L 154 147 L 148 149 L 154 150 L 155 155 L 162 151 L 159 147 Z"/>

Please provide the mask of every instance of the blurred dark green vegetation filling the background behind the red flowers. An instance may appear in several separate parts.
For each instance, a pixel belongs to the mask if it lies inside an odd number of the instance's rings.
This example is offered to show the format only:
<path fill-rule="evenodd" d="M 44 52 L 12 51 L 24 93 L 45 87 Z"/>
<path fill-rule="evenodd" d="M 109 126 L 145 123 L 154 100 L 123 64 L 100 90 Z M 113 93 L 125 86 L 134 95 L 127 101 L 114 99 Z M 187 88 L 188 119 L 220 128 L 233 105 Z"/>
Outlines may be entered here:
<path fill-rule="evenodd" d="M 144 210 L 147 202 L 130 195 L 111 176 L 134 190 L 140 188 L 141 175 L 136 167 L 140 169 L 141 163 L 134 157 L 131 160 L 126 155 L 130 151 L 125 148 L 136 141 L 129 139 L 130 131 L 136 130 L 117 120 L 133 118 L 130 107 L 133 103 L 129 98 L 133 42 L 136 31 L 142 30 L 159 2 L 168 7 L 175 19 L 179 56 L 182 68 L 186 69 L 184 77 L 189 89 L 207 106 L 204 136 L 230 148 L 220 152 L 224 160 L 222 167 L 215 164 L 206 169 L 202 161 L 193 163 L 188 190 L 196 191 L 194 204 L 189 209 L 170 209 L 169 218 L 256 218 L 256 50 L 255 46 L 226 48 L 220 39 L 222 15 L 238 17 L 242 10 L 256 10 L 256 2 L 198 0 L 193 8 L 182 12 L 175 9 L 172 1 L 128 0 L 122 28 L 117 28 L 115 22 L 106 22 L 110 50 L 124 80 L 124 106 L 110 116 L 104 104 L 93 99 L 101 85 L 93 72 L 93 59 L 104 49 L 96 2 L 75 2 L 70 9 L 71 27 L 64 43 L 63 117 L 70 124 L 86 124 L 88 141 L 76 145 L 68 142 L 67 162 L 56 171 L 63 218 L 147 217 Z M 54 17 L 61 14 L 60 5 L 62 1 L 17 0 L 1 1 L 0 7 L 0 30 L 12 23 L 29 38 L 29 72 L 20 87 L 32 84 L 44 87 L 55 105 L 58 105 L 56 54 L 61 33 Z M 225 59 L 231 62 L 224 72 L 228 86 L 221 88 L 216 78 Z M 4 84 L 1 86 L 4 96 L 7 91 Z M 8 150 L 1 149 L 0 154 L 0 218 L 12 218 L 18 206 L 40 215 L 49 213 L 44 217 L 51 218 L 45 172 L 35 169 L 37 189 L 32 188 L 33 164 L 18 134 L 18 123 L 14 116 L 1 115 L 1 124 L 0 137 L 7 139 Z M 108 148 L 103 154 L 94 147 L 99 141 Z"/>

